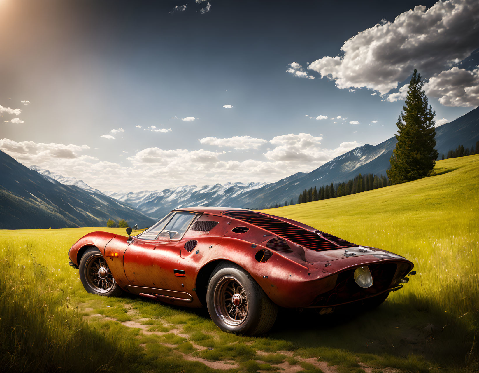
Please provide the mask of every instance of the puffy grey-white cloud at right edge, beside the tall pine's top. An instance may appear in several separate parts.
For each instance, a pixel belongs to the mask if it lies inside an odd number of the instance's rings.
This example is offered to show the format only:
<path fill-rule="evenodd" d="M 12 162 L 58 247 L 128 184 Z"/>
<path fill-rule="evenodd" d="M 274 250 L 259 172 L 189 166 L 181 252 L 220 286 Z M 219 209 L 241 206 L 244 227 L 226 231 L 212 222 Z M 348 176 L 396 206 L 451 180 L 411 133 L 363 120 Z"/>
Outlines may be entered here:
<path fill-rule="evenodd" d="M 479 68 L 468 71 L 453 67 L 424 84 L 426 94 L 438 97 L 445 106 L 479 105 Z"/>

